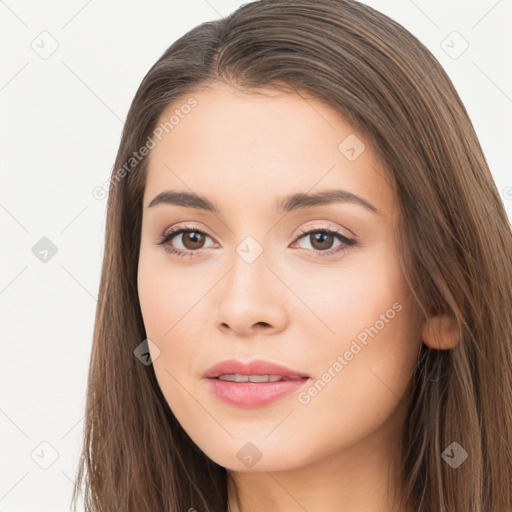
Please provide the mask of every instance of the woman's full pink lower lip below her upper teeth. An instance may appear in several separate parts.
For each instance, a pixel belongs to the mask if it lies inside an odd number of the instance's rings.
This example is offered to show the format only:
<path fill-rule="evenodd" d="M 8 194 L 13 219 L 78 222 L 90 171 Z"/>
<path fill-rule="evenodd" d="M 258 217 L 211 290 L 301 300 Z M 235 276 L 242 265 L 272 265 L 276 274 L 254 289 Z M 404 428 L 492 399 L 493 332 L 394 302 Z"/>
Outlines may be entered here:
<path fill-rule="evenodd" d="M 278 382 L 228 382 L 207 379 L 213 393 L 228 404 L 241 407 L 261 407 L 298 391 L 309 378 L 281 380 Z"/>

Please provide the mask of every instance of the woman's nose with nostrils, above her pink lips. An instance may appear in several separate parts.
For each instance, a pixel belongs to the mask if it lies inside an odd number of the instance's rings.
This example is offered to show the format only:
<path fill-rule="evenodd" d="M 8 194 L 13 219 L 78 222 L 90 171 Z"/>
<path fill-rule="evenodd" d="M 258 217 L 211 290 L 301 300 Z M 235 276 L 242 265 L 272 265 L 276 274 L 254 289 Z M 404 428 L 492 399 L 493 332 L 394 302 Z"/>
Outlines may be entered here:
<path fill-rule="evenodd" d="M 269 268 L 265 252 L 252 262 L 235 252 L 232 261 L 217 289 L 218 328 L 238 337 L 283 330 L 287 322 L 286 287 Z"/>

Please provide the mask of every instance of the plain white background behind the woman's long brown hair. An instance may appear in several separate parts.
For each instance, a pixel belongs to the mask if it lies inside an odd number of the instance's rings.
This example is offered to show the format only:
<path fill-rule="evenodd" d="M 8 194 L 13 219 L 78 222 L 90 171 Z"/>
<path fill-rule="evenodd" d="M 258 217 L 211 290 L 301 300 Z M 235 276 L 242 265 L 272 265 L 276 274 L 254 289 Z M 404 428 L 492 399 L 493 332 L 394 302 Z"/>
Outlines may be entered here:
<path fill-rule="evenodd" d="M 363 3 L 404 25 L 448 72 L 512 218 L 512 1 Z M 149 67 L 240 5 L 0 0 L 0 512 L 69 510 L 103 254 L 106 199 L 92 190 L 109 179 Z M 453 31 L 469 43 L 457 59 L 441 46 Z M 42 37 L 46 49 L 58 44 L 46 59 L 33 49 Z M 47 263 L 32 253 L 42 237 L 58 249 Z"/>

